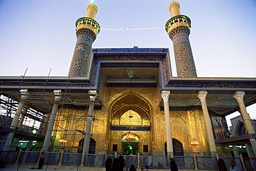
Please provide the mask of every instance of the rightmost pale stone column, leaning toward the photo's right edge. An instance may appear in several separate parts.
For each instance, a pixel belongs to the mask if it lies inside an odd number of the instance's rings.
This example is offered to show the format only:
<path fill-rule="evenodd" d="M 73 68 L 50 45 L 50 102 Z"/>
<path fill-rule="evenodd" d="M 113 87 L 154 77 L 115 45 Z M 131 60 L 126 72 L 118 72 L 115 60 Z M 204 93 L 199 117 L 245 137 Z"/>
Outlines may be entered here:
<path fill-rule="evenodd" d="M 244 105 L 244 94 L 243 91 L 237 91 L 233 94 L 233 97 L 237 99 L 237 103 L 240 108 L 241 117 L 244 121 L 244 127 L 246 128 L 248 134 L 255 134 L 255 131 L 253 130 L 253 125 L 250 122 L 250 115 L 246 111 L 246 106 Z M 250 139 L 250 145 L 252 145 L 253 152 L 256 154 L 256 140 Z"/>

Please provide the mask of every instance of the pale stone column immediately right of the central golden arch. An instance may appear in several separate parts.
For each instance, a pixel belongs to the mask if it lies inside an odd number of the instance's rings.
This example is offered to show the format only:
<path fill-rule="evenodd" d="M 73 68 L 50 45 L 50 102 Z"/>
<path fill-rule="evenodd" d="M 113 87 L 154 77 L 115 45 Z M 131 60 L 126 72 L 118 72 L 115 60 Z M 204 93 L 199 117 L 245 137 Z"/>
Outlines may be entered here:
<path fill-rule="evenodd" d="M 172 145 L 172 130 L 171 130 L 171 121 L 170 121 L 169 95 L 170 95 L 170 91 L 162 91 L 162 93 L 161 93 L 161 96 L 163 98 L 163 106 L 165 109 L 167 156 L 173 157 L 174 149 L 173 149 L 173 145 Z"/>

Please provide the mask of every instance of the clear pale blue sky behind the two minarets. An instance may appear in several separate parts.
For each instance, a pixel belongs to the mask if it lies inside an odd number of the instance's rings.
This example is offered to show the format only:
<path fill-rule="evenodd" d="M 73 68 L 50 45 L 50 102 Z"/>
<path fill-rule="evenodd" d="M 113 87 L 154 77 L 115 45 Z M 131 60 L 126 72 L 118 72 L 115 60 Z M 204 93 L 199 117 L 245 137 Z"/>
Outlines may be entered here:
<path fill-rule="evenodd" d="M 170 48 L 165 23 L 171 0 L 96 0 L 101 30 L 93 48 Z M 67 76 L 75 21 L 89 0 L 0 0 L 0 75 Z M 198 77 L 256 77 L 256 1 L 180 0 L 190 17 L 190 43 Z M 155 28 L 127 30 L 127 28 Z M 256 110 L 256 109 L 255 109 Z M 248 112 L 256 117 L 255 110 Z M 254 114 L 253 114 L 254 112 Z M 253 116 L 252 116 L 253 115 Z"/>

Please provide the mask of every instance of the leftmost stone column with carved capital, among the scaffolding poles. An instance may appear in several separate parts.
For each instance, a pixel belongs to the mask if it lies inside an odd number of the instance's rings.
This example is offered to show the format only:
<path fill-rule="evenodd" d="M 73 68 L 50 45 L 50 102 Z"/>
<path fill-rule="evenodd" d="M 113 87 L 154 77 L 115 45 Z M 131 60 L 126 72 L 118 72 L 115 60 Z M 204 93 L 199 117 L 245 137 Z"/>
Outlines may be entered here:
<path fill-rule="evenodd" d="M 10 128 L 17 129 L 18 123 L 19 123 L 19 116 L 21 115 L 21 110 L 24 107 L 24 103 L 26 99 L 28 98 L 28 89 L 21 89 L 19 92 L 21 92 L 21 101 L 19 101 L 19 106 L 16 110 L 15 117 L 12 119 L 12 124 L 10 125 Z M 12 143 L 12 139 L 15 136 L 15 133 L 10 132 L 8 134 L 8 137 L 6 139 L 6 143 L 4 144 L 3 150 L 9 150 L 10 144 Z"/>

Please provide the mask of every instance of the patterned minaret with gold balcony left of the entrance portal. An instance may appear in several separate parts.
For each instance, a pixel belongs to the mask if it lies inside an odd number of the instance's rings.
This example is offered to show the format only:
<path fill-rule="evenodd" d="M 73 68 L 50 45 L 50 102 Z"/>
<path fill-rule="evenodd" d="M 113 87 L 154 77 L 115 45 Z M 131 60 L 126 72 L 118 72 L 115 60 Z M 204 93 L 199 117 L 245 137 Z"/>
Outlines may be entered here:
<path fill-rule="evenodd" d="M 68 77 L 87 77 L 91 68 L 91 48 L 97 34 L 100 32 L 100 25 L 94 20 L 98 12 L 97 6 L 90 3 L 87 6 L 86 16 L 77 19 L 75 22 L 77 42 L 73 59 L 68 72 Z"/>

